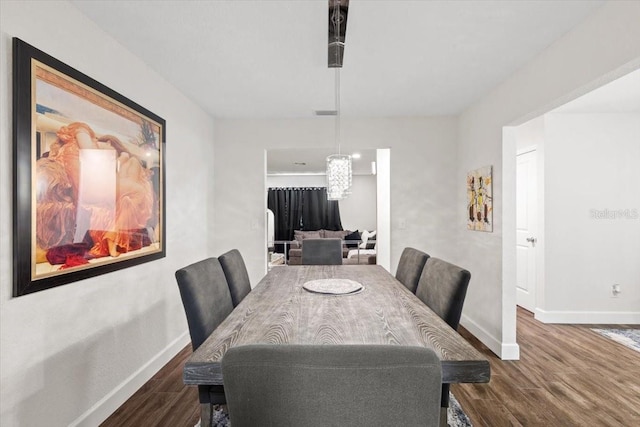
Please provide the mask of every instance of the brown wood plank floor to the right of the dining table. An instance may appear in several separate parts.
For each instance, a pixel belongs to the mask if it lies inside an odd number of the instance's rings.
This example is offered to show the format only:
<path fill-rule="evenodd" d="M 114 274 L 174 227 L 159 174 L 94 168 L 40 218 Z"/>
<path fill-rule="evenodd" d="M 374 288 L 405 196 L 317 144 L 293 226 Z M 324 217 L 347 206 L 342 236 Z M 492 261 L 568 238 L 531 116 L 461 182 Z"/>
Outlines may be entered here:
<path fill-rule="evenodd" d="M 491 381 L 451 391 L 474 426 L 640 426 L 640 353 L 590 330 L 600 326 L 544 324 L 518 308 L 519 361 L 460 328 L 489 359 Z"/>

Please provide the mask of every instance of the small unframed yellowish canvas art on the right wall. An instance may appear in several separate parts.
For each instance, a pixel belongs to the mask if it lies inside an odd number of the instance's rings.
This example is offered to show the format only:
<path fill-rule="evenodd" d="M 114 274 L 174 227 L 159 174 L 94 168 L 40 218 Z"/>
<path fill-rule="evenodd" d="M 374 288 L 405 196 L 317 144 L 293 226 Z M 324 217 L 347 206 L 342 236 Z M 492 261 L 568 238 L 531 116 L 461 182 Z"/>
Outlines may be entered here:
<path fill-rule="evenodd" d="M 467 174 L 467 229 L 493 231 L 492 166 Z"/>

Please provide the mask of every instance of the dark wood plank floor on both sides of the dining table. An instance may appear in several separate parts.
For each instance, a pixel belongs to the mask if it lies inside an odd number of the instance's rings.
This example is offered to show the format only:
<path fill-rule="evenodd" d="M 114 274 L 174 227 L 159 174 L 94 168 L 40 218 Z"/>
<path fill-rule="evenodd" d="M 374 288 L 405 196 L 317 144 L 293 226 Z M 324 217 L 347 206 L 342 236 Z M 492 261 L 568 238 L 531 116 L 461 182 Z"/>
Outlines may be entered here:
<path fill-rule="evenodd" d="M 491 381 L 451 391 L 474 426 L 640 426 L 640 353 L 593 326 L 543 324 L 518 308 L 519 361 L 498 359 L 461 327 L 489 359 Z M 197 389 L 182 384 L 190 354 L 185 347 L 101 425 L 194 426 Z"/>

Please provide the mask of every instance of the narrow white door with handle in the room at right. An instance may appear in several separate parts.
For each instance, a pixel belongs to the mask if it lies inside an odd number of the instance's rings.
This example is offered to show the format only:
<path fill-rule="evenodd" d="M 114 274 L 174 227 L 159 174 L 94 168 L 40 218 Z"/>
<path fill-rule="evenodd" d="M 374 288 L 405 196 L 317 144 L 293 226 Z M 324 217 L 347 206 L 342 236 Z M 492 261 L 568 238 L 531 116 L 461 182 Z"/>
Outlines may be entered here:
<path fill-rule="evenodd" d="M 517 156 L 516 168 L 516 302 L 533 312 L 536 307 L 536 152 Z"/>

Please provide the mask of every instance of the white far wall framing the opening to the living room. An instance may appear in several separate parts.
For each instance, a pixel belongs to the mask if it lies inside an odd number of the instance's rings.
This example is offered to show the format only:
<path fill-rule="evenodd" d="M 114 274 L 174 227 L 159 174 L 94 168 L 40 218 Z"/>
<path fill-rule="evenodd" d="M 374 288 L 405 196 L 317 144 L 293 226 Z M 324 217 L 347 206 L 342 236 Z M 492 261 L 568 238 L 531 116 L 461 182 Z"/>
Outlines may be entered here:
<path fill-rule="evenodd" d="M 252 283 L 264 275 L 264 152 L 322 147 L 333 119 L 216 121 L 216 252 L 238 247 Z M 343 149 L 391 149 L 391 266 L 405 246 L 447 258 L 456 250 L 456 120 L 342 119 Z M 345 148 L 347 147 L 347 148 Z"/>

